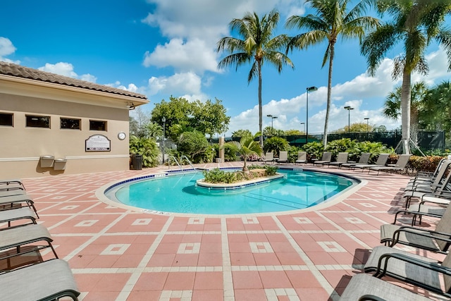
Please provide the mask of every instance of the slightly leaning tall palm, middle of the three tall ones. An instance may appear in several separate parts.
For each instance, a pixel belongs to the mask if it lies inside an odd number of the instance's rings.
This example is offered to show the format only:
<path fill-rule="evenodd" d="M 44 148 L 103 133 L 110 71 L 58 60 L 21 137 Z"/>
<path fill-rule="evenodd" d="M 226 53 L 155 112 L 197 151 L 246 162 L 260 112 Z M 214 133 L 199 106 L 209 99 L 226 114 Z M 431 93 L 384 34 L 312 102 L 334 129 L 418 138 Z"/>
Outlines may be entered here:
<path fill-rule="evenodd" d="M 329 61 L 328 86 L 327 86 L 327 108 L 326 121 L 324 123 L 323 145 L 327 145 L 327 132 L 330 111 L 330 99 L 332 95 L 332 67 L 335 56 L 335 43 L 338 37 L 342 39 L 352 39 L 358 37 L 360 41 L 366 30 L 376 28 L 379 21 L 370 16 L 362 16 L 366 8 L 371 4 L 371 0 L 359 1 L 349 12 L 347 4 L 350 0 L 307 0 L 307 3 L 315 8 L 316 15 L 291 16 L 285 23 L 285 27 L 298 29 L 307 28 L 309 32 L 291 37 L 288 43 L 287 52 L 294 48 L 307 49 L 307 47 L 320 44 L 324 40 L 328 42 L 328 47 L 323 57 L 324 67 Z"/>

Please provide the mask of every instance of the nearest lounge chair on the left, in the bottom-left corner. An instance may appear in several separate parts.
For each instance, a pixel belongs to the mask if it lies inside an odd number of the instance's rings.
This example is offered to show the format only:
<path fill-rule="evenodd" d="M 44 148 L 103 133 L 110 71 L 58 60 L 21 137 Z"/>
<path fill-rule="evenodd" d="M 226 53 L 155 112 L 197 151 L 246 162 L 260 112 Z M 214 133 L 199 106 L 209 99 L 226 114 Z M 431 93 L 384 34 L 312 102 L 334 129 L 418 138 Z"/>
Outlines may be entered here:
<path fill-rule="evenodd" d="M 78 300 L 77 283 L 63 259 L 25 266 L 0 274 L 1 300 Z"/>

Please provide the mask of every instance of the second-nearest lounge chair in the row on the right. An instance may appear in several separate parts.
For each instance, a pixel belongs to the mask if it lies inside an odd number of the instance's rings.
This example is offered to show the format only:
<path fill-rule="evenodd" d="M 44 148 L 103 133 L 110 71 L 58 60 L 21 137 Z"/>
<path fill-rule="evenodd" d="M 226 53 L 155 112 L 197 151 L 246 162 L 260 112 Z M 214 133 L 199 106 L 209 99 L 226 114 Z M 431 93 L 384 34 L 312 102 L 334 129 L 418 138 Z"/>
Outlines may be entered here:
<path fill-rule="evenodd" d="M 451 297 L 451 253 L 439 264 L 435 259 L 380 245 L 375 247 L 366 264 L 366 273 L 382 278 L 390 276 L 433 293 Z M 441 278 L 444 278 L 444 288 Z"/>

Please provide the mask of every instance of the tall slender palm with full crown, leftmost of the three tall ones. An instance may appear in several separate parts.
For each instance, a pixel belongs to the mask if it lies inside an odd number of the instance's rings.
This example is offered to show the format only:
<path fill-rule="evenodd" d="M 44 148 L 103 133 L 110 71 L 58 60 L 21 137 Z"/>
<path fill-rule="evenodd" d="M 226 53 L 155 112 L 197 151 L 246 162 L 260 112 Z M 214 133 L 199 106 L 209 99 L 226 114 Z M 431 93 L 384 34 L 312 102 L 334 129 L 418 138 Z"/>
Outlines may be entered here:
<path fill-rule="evenodd" d="M 239 66 L 252 63 L 247 76 L 250 83 L 255 77 L 259 79 L 259 132 L 262 133 L 262 109 L 261 109 L 261 67 L 265 61 L 276 66 L 278 73 L 282 72 L 284 65 L 294 68 L 292 61 L 278 51 L 283 49 L 287 42 L 287 35 L 273 37 L 279 21 L 279 13 L 276 10 L 264 15 L 262 18 L 257 13 L 246 13 L 242 19 L 233 19 L 230 22 L 230 30 L 237 30 L 242 39 L 235 37 L 223 37 L 218 41 L 217 51 L 226 50 L 230 54 L 218 63 L 218 68 L 226 68 L 230 65 Z M 260 136 L 260 146 L 263 147 L 263 136 Z"/>

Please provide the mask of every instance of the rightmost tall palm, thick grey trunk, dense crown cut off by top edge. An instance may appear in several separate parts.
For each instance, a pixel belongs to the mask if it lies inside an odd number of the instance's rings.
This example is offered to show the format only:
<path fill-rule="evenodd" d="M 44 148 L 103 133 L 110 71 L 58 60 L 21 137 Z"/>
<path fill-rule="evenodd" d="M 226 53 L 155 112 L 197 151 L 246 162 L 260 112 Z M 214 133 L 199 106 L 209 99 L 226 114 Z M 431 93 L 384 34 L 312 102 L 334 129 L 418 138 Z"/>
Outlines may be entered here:
<path fill-rule="evenodd" d="M 451 31 L 443 27 L 451 1 L 385 0 L 377 2 L 377 9 L 381 15 L 392 15 L 393 20 L 371 32 L 364 39 L 361 52 L 367 57 L 369 72 L 374 75 L 385 54 L 402 43 L 404 54 L 394 59 L 392 77 L 394 80 L 402 77 L 402 148 L 405 154 L 409 154 L 411 75 L 414 71 L 423 75 L 428 73 L 424 52 L 434 39 L 445 48 L 448 68 L 451 68 Z"/>

